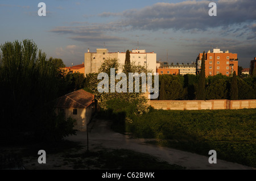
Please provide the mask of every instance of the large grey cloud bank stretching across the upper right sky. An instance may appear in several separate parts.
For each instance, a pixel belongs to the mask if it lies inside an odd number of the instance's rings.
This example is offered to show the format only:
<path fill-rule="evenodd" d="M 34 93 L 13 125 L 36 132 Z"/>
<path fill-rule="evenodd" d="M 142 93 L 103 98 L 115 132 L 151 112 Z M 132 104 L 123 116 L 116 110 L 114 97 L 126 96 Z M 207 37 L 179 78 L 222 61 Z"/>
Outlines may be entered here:
<path fill-rule="evenodd" d="M 117 16 L 118 19 L 108 23 L 75 22 L 71 26 L 55 27 L 50 32 L 67 34 L 76 41 L 123 41 L 122 37 L 110 36 L 117 32 L 131 31 L 181 31 L 184 33 L 222 37 L 245 37 L 256 40 L 255 0 L 219 0 L 217 16 L 209 16 L 210 1 L 184 1 L 178 3 L 159 2 L 142 9 L 122 12 L 102 12 L 101 18 Z M 86 16 L 88 18 L 88 16 Z M 74 26 L 77 25 L 77 26 Z M 110 35 L 109 35 L 110 34 Z"/>

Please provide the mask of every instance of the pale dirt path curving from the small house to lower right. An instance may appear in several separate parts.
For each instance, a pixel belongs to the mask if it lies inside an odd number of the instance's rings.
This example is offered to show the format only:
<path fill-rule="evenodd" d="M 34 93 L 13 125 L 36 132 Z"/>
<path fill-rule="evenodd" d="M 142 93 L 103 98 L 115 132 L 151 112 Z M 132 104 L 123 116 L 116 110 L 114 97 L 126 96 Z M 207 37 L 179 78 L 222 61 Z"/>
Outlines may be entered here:
<path fill-rule="evenodd" d="M 108 121 L 93 120 L 93 128 L 89 133 L 89 150 L 103 146 L 112 149 L 130 149 L 141 153 L 147 153 L 162 159 L 170 164 L 187 167 L 187 169 L 199 170 L 251 170 L 252 167 L 243 166 L 238 163 L 226 162 L 217 158 L 216 164 L 208 162 L 209 157 L 197 155 L 186 151 L 171 148 L 148 145 L 145 139 L 133 139 L 124 134 L 110 130 Z M 87 144 L 86 132 L 77 132 L 76 136 L 69 136 L 67 140 L 81 141 Z"/>

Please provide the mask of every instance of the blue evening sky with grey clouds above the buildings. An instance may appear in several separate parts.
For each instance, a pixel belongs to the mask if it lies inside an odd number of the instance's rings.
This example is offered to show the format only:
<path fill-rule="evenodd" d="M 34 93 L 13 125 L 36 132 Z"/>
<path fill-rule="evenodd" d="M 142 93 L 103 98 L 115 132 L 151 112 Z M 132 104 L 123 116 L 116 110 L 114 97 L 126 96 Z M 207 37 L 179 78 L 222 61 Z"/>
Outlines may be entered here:
<path fill-rule="evenodd" d="M 40 2 L 46 16 L 38 15 Z M 210 2 L 217 16 L 209 16 Z M 217 47 L 237 53 L 238 65 L 249 68 L 256 57 L 255 7 L 255 0 L 1 0 L 0 44 L 30 39 L 66 66 L 82 64 L 88 48 L 139 47 L 157 60 L 186 64 Z"/>

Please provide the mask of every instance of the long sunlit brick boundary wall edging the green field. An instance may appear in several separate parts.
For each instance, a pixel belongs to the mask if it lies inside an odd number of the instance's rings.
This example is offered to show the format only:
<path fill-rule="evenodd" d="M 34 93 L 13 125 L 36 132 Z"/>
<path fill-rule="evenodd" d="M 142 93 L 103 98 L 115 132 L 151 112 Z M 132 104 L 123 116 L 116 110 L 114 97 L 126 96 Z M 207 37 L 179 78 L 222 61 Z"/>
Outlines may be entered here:
<path fill-rule="evenodd" d="M 238 110 L 256 108 L 256 100 L 148 100 L 155 109 L 163 110 Z"/>

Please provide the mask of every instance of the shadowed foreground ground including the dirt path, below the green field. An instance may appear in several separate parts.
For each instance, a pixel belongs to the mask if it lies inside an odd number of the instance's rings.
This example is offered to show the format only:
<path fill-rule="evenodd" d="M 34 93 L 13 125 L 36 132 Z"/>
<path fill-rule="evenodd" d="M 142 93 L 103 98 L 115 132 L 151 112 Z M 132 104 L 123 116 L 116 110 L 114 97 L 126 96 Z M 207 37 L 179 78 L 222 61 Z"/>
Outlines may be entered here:
<path fill-rule="evenodd" d="M 66 137 L 69 143 L 77 142 L 73 149 L 63 149 L 63 151 L 52 151 L 48 148 L 34 147 L 32 150 L 46 150 L 47 163 L 39 164 L 37 153 L 33 156 L 23 157 L 26 169 L 130 169 L 129 160 L 137 160 L 138 168 L 143 169 L 145 165 L 158 164 L 157 168 L 145 167 L 146 169 L 192 169 L 192 170 L 251 170 L 253 168 L 237 163 L 222 161 L 217 158 L 217 164 L 210 164 L 203 155 L 197 155 L 186 151 L 163 148 L 156 145 L 147 144 L 148 139 L 132 138 L 129 134 L 113 132 L 110 129 L 110 121 L 93 119 L 89 127 L 92 127 L 89 135 L 89 146 L 87 147 L 86 132 L 77 132 L 77 135 Z M 72 145 L 71 145 L 72 146 Z M 53 146 L 54 147 L 54 146 Z M 56 146 L 59 147 L 59 146 Z M 60 147 L 61 148 L 61 147 Z M 21 148 L 13 148 L 20 150 Z M 87 151 L 89 150 L 89 151 Z M 55 153 L 56 152 L 56 153 Z M 111 158 L 111 159 L 110 159 Z M 113 165 L 106 163 L 112 162 Z M 142 162 L 148 163 L 139 163 Z M 122 161 L 125 162 L 122 164 Z M 117 165 L 119 164 L 119 166 Z M 108 165 L 108 166 L 106 166 Z M 120 166 L 121 165 L 121 166 Z M 134 168 L 133 168 L 134 169 Z"/>

